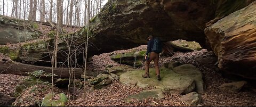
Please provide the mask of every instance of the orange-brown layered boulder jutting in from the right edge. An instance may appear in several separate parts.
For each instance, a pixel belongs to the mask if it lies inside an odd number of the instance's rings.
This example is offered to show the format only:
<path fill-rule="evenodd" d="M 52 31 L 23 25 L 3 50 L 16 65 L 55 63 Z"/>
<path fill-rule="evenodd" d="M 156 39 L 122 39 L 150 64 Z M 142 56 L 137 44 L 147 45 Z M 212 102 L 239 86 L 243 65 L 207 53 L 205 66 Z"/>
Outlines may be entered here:
<path fill-rule="evenodd" d="M 218 67 L 228 73 L 256 79 L 256 2 L 205 29 L 218 55 Z"/>

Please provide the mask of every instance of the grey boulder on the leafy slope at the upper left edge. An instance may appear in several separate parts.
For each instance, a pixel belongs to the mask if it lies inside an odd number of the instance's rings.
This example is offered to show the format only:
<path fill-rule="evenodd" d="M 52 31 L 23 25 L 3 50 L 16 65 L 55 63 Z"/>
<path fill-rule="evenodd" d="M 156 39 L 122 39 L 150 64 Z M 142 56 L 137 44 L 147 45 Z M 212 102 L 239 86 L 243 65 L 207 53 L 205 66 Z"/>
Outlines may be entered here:
<path fill-rule="evenodd" d="M 41 35 L 38 25 L 35 22 L 26 21 L 26 27 L 23 27 L 23 21 L 8 18 L 0 15 L 0 45 L 16 44 L 26 40 L 36 39 Z"/>

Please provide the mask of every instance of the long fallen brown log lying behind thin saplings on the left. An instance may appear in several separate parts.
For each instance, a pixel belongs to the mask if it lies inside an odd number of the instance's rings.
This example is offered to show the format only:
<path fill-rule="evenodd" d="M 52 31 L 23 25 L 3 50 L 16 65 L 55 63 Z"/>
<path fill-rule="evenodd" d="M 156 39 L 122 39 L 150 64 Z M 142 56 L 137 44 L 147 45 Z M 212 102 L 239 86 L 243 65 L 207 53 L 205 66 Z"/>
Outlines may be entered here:
<path fill-rule="evenodd" d="M 2 74 L 12 74 L 12 75 L 21 75 L 21 76 L 28 76 L 26 72 L 34 72 L 36 70 L 43 70 L 44 73 L 52 73 L 52 67 L 42 67 L 36 65 L 29 65 L 14 62 L 9 59 L 2 59 L 0 60 L 0 73 Z M 54 78 L 69 78 L 69 68 L 53 68 Z M 83 69 L 81 68 L 70 68 L 75 72 L 75 78 L 81 78 L 83 74 Z M 46 76 L 42 76 L 46 77 Z M 49 77 L 48 77 L 49 78 Z"/>

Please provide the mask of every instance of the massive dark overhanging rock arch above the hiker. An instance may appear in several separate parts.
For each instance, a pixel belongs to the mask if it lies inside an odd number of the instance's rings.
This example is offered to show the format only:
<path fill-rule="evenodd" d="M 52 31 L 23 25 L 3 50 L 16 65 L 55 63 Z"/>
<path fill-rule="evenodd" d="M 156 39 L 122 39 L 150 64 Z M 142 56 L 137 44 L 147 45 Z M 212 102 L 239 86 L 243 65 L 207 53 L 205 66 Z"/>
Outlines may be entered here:
<path fill-rule="evenodd" d="M 204 0 L 109 1 L 91 20 L 91 40 L 101 52 L 146 44 L 149 34 L 166 42 L 185 39 L 204 44 L 203 29 L 214 18 L 215 5 Z"/>

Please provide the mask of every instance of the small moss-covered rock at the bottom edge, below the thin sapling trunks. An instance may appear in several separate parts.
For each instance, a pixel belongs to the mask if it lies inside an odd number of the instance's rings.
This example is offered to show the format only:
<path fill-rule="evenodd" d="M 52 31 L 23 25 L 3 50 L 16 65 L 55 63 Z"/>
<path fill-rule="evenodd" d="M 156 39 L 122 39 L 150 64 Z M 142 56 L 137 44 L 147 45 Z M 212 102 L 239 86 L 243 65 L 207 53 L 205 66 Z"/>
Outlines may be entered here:
<path fill-rule="evenodd" d="M 53 93 L 53 95 L 55 95 L 55 93 Z M 52 93 L 46 94 L 43 98 L 41 106 L 65 106 L 68 102 L 68 98 L 63 93 L 58 94 L 58 96 L 60 97 L 58 100 L 51 101 L 53 95 Z"/>

